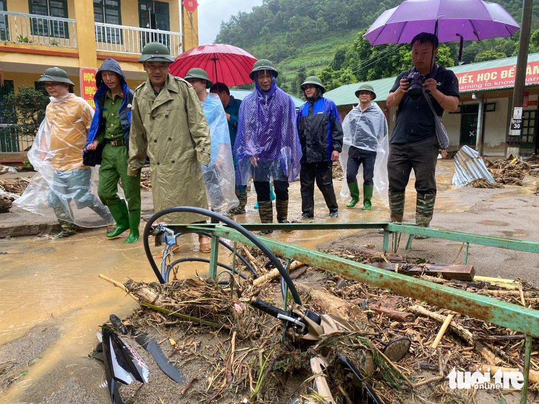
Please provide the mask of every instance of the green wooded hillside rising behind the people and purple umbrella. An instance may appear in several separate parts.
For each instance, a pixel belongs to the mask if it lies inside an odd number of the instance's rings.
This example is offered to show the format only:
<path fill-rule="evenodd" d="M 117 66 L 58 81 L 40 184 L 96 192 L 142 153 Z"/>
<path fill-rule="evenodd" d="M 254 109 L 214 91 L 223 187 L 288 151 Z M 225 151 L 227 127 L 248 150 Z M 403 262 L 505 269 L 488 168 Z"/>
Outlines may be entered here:
<path fill-rule="evenodd" d="M 279 86 L 302 96 L 306 75 L 319 75 L 328 89 L 397 75 L 411 65 L 408 45 L 371 47 L 363 33 L 384 10 L 401 0 L 264 0 L 250 13 L 223 22 L 216 43 L 244 48 L 257 59 L 269 59 L 280 72 Z M 522 2 L 499 3 L 520 22 Z M 539 51 L 539 4 L 532 12 L 530 52 Z M 535 31 L 535 32 L 534 32 Z M 462 61 L 486 61 L 516 55 L 520 31 L 513 37 L 467 42 Z M 458 62 L 458 43 L 441 44 L 437 61 Z"/>

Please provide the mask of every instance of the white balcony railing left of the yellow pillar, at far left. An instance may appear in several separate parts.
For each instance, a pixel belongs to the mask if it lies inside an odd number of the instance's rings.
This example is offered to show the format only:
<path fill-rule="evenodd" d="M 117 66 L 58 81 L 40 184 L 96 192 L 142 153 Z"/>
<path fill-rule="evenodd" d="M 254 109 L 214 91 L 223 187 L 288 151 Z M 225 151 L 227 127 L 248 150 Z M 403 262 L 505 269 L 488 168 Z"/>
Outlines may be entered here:
<path fill-rule="evenodd" d="M 0 41 L 76 48 L 75 20 L 0 11 Z"/>

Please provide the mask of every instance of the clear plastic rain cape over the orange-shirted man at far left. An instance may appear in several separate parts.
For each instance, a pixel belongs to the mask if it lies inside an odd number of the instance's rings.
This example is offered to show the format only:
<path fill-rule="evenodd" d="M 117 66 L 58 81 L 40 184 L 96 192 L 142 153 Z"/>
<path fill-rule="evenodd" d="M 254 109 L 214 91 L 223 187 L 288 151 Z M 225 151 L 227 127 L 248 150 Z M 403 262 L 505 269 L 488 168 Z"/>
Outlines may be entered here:
<path fill-rule="evenodd" d="M 96 197 L 98 169 L 82 164 L 93 114 L 88 103 L 74 94 L 51 97 L 28 152 L 37 174 L 15 201 L 18 207 L 82 227 L 114 223 Z"/>

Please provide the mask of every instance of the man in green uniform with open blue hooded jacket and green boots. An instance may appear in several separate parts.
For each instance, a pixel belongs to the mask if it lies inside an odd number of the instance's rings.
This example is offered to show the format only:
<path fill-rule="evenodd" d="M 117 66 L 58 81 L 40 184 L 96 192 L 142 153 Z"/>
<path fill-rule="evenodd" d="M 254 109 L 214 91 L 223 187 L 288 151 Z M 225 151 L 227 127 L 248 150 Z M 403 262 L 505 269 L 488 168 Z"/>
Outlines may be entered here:
<path fill-rule="evenodd" d="M 141 207 L 140 171 L 136 176 L 127 175 L 133 90 L 127 87 L 126 77 L 114 59 L 103 62 L 95 74 L 95 85 L 98 88 L 94 95 L 95 115 L 88 133 L 84 163 L 101 164 L 98 196 L 116 221 L 116 228 L 107 233 L 107 239 L 129 231 L 125 242 L 132 243 L 140 237 Z M 125 200 L 118 196 L 118 179 L 122 181 Z"/>

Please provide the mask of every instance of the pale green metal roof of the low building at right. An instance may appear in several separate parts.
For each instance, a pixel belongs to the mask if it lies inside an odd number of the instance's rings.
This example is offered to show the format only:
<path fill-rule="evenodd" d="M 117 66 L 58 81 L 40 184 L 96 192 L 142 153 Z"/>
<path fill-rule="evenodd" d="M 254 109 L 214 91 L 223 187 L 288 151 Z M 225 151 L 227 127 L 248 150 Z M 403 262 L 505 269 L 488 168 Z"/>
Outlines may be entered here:
<path fill-rule="evenodd" d="M 539 53 L 530 53 L 528 55 L 528 62 L 535 62 L 535 61 L 539 61 Z M 462 66 L 453 66 L 453 67 L 448 67 L 448 69 L 452 70 L 454 73 L 466 73 L 466 72 L 473 72 L 475 70 L 510 66 L 514 64 L 516 64 L 516 57 L 489 60 L 486 62 L 471 63 L 469 65 L 462 65 Z M 382 102 L 382 101 L 385 101 L 386 97 L 388 96 L 389 90 L 391 89 L 391 87 L 393 87 L 393 83 L 395 83 L 396 78 L 397 76 L 394 76 L 387 79 L 365 81 L 365 83 L 370 84 L 372 88 L 374 88 L 374 91 L 376 93 L 375 101 Z M 362 83 L 345 84 L 344 86 L 328 91 L 327 93 L 324 94 L 324 97 L 335 102 L 337 107 L 343 106 L 343 105 L 357 105 L 358 100 L 357 100 L 357 97 L 355 96 L 355 92 L 360 87 L 360 84 Z M 537 85 L 537 84 L 531 83 L 530 85 Z M 502 88 L 512 88 L 512 86 L 496 87 L 494 89 L 499 90 Z M 485 89 L 474 90 L 474 91 L 481 92 L 481 91 L 485 91 Z"/>

